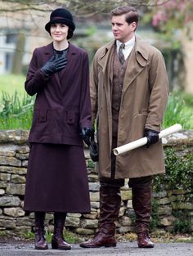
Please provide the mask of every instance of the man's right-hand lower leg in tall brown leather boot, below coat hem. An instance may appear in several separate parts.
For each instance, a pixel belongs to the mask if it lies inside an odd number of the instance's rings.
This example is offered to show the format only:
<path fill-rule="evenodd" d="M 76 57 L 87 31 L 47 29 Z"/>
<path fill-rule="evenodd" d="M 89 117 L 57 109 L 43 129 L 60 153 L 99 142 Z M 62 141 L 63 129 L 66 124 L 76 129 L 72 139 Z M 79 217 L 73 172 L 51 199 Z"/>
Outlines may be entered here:
<path fill-rule="evenodd" d="M 139 248 L 153 248 L 150 240 L 150 210 L 151 210 L 152 177 L 141 177 L 137 185 L 132 186 L 132 207 L 136 214 L 137 244 Z"/>

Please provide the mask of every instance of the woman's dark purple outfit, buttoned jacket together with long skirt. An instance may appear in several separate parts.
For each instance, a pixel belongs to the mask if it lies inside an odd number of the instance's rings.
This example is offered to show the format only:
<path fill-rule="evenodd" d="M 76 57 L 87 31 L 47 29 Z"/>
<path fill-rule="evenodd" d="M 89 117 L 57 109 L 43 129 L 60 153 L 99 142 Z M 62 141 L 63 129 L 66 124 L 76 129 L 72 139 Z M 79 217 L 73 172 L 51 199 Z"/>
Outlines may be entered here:
<path fill-rule="evenodd" d="M 81 129 L 91 127 L 88 53 L 70 43 L 64 70 L 41 68 L 52 43 L 34 50 L 25 90 L 36 94 L 25 186 L 27 212 L 89 213 L 88 173 Z"/>

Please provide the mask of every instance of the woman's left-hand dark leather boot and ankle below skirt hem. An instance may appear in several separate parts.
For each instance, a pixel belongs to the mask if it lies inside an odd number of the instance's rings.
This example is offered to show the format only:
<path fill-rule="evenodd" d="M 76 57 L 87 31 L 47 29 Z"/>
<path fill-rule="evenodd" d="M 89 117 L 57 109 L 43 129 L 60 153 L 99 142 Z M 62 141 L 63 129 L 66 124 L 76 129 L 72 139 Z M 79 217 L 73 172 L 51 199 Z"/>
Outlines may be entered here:
<path fill-rule="evenodd" d="M 48 249 L 44 237 L 44 218 L 45 213 L 35 212 L 35 249 Z"/>

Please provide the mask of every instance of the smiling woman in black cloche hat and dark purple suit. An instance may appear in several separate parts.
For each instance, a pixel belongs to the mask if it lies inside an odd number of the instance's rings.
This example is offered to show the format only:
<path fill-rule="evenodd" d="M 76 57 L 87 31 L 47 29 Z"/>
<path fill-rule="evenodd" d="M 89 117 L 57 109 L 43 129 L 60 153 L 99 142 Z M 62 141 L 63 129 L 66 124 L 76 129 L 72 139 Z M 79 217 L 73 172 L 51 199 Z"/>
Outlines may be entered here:
<path fill-rule="evenodd" d="M 52 249 L 71 249 L 63 237 L 66 213 L 89 213 L 83 140 L 93 137 L 88 54 L 68 39 L 75 25 L 70 11 L 52 11 L 45 29 L 52 43 L 34 50 L 25 82 L 36 94 L 29 132 L 26 212 L 35 215 L 35 249 L 47 249 L 46 212 L 54 213 Z"/>

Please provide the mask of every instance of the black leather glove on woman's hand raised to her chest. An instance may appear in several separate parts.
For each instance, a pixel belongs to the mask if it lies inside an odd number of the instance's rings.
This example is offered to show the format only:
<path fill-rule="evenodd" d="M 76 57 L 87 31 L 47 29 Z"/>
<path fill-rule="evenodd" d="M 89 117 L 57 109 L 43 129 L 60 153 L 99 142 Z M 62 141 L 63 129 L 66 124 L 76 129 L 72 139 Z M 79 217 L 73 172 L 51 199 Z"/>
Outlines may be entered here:
<path fill-rule="evenodd" d="M 52 58 L 43 65 L 41 70 L 44 74 L 51 75 L 64 69 L 66 65 L 67 59 L 64 56 L 52 56 Z"/>

